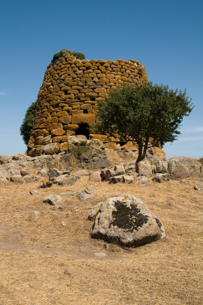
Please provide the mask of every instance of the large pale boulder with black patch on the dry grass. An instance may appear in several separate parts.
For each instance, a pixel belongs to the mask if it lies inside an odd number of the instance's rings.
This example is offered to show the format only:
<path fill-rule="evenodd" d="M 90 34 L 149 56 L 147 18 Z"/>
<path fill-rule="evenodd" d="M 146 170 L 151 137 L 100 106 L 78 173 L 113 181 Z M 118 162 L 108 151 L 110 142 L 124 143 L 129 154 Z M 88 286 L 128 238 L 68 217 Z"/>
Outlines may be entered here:
<path fill-rule="evenodd" d="M 124 194 L 109 198 L 97 210 L 93 238 L 138 246 L 165 237 L 161 221 L 135 196 Z"/>

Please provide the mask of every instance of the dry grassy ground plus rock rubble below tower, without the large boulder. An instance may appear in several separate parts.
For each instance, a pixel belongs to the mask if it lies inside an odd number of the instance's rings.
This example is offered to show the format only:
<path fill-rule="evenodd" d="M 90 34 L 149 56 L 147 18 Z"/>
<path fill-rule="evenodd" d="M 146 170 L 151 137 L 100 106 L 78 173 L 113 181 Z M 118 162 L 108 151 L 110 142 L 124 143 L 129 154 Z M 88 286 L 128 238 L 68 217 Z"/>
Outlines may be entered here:
<path fill-rule="evenodd" d="M 202 158 L 151 154 L 137 174 L 135 155 L 0 157 L 0 304 L 202 304 Z M 91 238 L 90 209 L 122 194 L 160 219 L 164 239 Z"/>

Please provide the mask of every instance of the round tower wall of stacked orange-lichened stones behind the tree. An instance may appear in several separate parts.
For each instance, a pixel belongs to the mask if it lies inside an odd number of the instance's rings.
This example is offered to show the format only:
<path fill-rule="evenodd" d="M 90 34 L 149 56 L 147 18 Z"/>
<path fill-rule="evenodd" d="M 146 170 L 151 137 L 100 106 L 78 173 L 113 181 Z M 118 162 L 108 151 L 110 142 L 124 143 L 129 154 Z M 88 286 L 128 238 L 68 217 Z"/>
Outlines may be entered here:
<path fill-rule="evenodd" d="M 45 72 L 36 104 L 35 120 L 28 143 L 29 156 L 68 150 L 68 136 L 112 142 L 87 128 L 95 123 L 97 102 L 108 97 L 110 88 L 147 82 L 145 67 L 138 61 L 80 60 L 68 53 L 52 61 Z M 112 143 L 113 144 L 113 143 Z"/>

